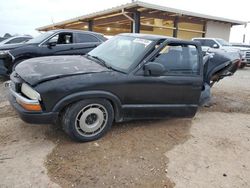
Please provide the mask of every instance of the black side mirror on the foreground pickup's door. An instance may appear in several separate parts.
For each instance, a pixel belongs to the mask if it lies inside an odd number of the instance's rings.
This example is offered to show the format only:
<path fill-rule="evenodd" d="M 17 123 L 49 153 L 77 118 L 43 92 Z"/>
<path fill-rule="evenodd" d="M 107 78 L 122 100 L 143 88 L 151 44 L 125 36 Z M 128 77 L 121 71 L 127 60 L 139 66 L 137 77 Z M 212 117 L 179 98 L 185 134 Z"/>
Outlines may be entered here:
<path fill-rule="evenodd" d="M 165 67 L 157 62 L 149 62 L 144 65 L 145 76 L 161 76 L 165 72 Z"/>

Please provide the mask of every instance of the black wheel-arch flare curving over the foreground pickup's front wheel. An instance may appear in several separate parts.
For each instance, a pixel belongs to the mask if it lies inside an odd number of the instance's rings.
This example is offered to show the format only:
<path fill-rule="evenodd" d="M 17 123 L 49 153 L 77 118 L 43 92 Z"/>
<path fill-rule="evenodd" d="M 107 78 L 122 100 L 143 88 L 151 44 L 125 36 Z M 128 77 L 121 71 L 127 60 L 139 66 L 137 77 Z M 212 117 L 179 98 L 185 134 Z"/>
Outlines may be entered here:
<path fill-rule="evenodd" d="M 122 121 L 122 104 L 120 99 L 116 95 L 106 91 L 84 91 L 68 95 L 62 98 L 59 102 L 57 102 L 52 111 L 61 112 L 66 106 L 72 103 L 84 99 L 93 99 L 93 98 L 104 98 L 109 100 L 114 108 L 115 121 L 116 122 Z"/>

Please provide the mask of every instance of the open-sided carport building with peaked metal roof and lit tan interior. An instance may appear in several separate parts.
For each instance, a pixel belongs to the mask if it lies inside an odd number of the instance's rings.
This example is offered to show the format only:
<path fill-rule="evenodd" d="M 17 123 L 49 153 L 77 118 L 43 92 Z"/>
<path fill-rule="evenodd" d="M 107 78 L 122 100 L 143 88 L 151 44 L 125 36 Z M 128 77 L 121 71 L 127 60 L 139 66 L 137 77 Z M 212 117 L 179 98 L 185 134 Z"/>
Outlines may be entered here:
<path fill-rule="evenodd" d="M 218 37 L 228 40 L 231 27 L 243 24 L 245 22 L 135 1 L 43 26 L 37 30 L 80 29 L 105 35 L 134 32 L 182 39 Z"/>

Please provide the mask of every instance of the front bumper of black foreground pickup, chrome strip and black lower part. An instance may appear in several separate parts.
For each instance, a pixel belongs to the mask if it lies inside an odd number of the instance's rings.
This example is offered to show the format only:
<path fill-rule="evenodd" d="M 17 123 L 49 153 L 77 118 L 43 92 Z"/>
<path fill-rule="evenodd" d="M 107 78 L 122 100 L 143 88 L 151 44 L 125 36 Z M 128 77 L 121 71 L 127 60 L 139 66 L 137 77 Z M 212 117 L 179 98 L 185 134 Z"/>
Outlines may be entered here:
<path fill-rule="evenodd" d="M 32 124 L 54 124 L 57 121 L 58 112 L 31 112 L 25 110 L 17 100 L 24 100 L 23 102 L 34 102 L 34 100 L 29 100 L 22 97 L 20 94 L 16 93 L 10 88 L 9 101 L 13 106 L 15 111 L 19 114 L 20 118 Z"/>

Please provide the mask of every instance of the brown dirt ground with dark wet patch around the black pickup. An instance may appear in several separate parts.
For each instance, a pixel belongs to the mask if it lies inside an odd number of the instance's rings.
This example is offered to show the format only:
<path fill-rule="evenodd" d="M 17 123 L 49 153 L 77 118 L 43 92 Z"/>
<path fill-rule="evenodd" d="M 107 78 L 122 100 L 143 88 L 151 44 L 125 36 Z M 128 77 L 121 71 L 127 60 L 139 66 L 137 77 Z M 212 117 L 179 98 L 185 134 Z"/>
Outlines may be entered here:
<path fill-rule="evenodd" d="M 22 122 L 0 84 L 0 187 L 250 187 L 250 68 L 193 119 L 116 124 L 102 139 Z"/>

